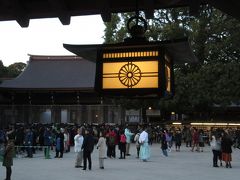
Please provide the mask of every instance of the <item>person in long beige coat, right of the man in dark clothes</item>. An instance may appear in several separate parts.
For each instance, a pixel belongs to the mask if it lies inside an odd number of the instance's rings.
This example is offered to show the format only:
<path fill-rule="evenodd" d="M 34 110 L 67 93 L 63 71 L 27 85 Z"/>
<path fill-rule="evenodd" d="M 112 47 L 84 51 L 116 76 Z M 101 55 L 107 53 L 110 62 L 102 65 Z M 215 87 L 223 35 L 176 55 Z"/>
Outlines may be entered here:
<path fill-rule="evenodd" d="M 99 151 L 99 167 L 100 169 L 104 169 L 104 159 L 106 157 L 106 138 L 104 134 L 100 132 L 99 139 L 97 143 L 97 149 Z"/>

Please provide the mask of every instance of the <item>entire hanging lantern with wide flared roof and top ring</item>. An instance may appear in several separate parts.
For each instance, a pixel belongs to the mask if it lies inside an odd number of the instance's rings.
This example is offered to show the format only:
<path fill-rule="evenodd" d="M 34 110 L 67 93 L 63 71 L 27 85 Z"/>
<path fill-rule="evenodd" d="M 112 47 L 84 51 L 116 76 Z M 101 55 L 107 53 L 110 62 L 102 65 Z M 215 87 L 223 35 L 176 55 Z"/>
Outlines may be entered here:
<path fill-rule="evenodd" d="M 127 28 L 131 37 L 122 43 L 64 47 L 96 62 L 95 89 L 101 95 L 172 96 L 174 61 L 196 61 L 187 39 L 147 41 L 147 23 L 138 15 L 129 19 Z"/>

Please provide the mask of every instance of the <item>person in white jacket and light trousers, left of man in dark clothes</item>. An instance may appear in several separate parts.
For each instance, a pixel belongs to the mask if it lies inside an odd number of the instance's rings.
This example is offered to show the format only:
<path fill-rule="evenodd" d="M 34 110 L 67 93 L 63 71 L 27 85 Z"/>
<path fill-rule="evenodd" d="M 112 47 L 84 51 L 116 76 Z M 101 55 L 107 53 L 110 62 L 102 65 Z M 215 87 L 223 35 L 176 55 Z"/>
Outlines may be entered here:
<path fill-rule="evenodd" d="M 83 144 L 83 136 L 82 136 L 82 129 L 79 128 L 77 131 L 77 135 L 74 137 L 74 151 L 77 153 L 76 161 L 75 161 L 75 168 L 80 168 L 83 162 L 83 151 L 82 151 L 82 144 Z"/>

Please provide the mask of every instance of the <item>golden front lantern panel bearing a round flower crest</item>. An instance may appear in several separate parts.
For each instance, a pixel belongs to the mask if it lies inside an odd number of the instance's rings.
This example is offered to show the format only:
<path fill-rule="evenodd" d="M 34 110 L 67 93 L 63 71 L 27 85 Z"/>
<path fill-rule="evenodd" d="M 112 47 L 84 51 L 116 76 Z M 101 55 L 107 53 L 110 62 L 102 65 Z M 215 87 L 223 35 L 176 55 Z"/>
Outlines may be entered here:
<path fill-rule="evenodd" d="M 158 88 L 158 61 L 103 63 L 102 89 Z"/>

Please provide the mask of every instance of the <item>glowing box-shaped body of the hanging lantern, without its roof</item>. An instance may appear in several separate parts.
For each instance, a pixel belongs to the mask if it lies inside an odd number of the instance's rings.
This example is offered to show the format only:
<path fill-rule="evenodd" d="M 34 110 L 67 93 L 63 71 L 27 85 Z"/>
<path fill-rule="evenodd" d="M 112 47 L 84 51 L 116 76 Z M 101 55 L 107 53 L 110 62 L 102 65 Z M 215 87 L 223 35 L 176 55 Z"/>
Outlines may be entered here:
<path fill-rule="evenodd" d="M 98 50 L 96 89 L 103 94 L 173 94 L 173 66 L 154 43 L 103 46 Z"/>

